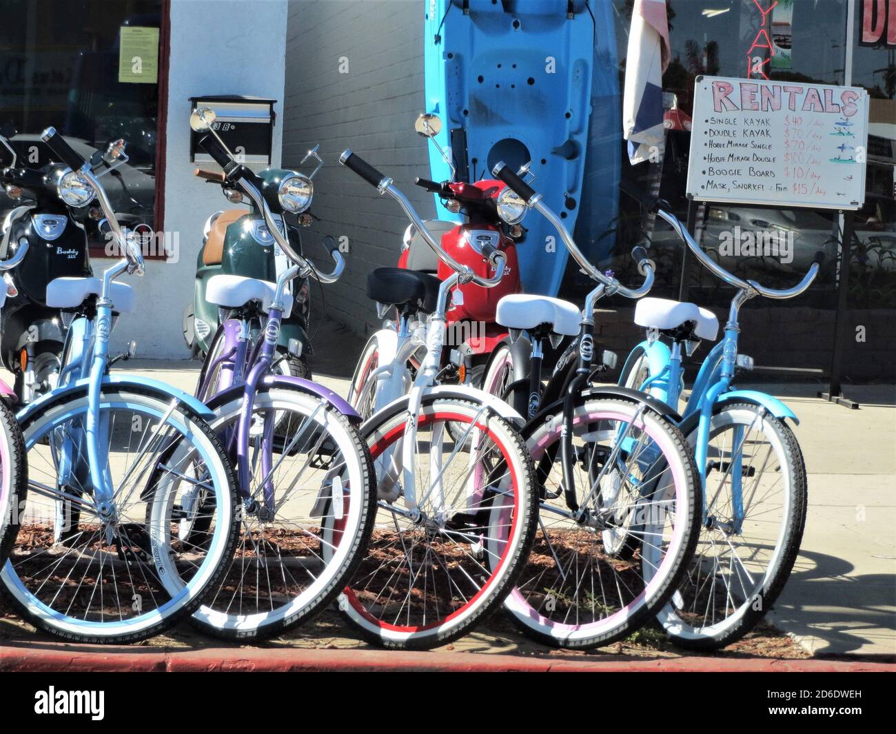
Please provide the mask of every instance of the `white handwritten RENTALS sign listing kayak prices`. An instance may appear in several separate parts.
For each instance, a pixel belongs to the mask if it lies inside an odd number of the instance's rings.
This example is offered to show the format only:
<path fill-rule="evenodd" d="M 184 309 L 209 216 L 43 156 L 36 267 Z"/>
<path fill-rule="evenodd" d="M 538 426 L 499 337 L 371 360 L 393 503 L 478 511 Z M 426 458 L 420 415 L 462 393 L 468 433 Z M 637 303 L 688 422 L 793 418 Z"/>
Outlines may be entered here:
<path fill-rule="evenodd" d="M 857 209 L 867 143 L 865 90 L 698 76 L 687 193 L 697 201 Z"/>

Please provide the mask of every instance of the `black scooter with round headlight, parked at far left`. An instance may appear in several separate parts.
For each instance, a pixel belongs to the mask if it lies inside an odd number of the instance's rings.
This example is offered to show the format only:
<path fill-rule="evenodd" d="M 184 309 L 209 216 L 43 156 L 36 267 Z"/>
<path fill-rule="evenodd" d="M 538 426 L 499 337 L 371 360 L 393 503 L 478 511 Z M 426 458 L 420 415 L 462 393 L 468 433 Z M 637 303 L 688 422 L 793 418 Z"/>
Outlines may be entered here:
<path fill-rule="evenodd" d="M 12 156 L 11 165 L 0 169 L 0 183 L 18 204 L 4 217 L 0 260 L 25 243 L 29 249 L 19 267 L 4 274 L 0 286 L 7 297 L 0 312 L 0 360 L 15 377 L 19 401 L 29 403 L 56 386 L 65 343 L 67 324 L 60 309 L 47 306 L 47 283 L 92 274 L 85 222 L 97 215 L 90 207 L 92 189 L 65 164 L 18 166 L 7 140 L 14 134 L 8 125 L 0 130 L 0 144 Z M 127 160 L 124 148 L 124 141 L 109 143 L 105 154 L 94 155 L 95 165 L 116 168 Z"/>

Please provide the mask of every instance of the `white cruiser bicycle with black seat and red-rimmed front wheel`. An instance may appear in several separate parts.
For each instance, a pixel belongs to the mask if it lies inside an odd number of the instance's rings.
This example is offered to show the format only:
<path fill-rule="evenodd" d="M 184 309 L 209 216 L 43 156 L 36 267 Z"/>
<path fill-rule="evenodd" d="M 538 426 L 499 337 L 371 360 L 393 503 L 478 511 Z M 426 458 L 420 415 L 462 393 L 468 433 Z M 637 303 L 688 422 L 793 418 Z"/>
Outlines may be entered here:
<path fill-rule="evenodd" d="M 469 631 L 500 605 L 528 556 L 537 520 L 529 453 L 513 410 L 456 384 L 457 350 L 443 364 L 446 311 L 461 284 L 490 288 L 504 274 L 496 243 L 472 240 L 487 263 L 474 272 L 446 252 L 392 179 L 344 151 L 340 163 L 401 205 L 452 275 L 383 267 L 367 295 L 398 323 L 358 369 L 360 430 L 375 462 L 376 524 L 370 549 L 340 597 L 340 609 L 368 639 L 428 648 Z M 409 358 L 425 352 L 412 376 Z M 441 376 L 446 383 L 438 384 Z M 368 403 L 366 403 L 366 401 Z"/>

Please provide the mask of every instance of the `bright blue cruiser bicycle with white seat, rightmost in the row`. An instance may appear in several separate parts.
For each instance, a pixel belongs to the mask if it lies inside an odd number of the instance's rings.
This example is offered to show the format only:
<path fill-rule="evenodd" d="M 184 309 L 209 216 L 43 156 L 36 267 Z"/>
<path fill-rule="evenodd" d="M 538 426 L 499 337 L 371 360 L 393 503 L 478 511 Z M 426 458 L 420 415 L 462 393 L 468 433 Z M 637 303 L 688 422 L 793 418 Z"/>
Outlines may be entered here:
<path fill-rule="evenodd" d="M 753 360 L 737 351 L 737 316 L 750 298 L 795 298 L 806 291 L 824 255 L 815 255 L 793 288 L 765 288 L 704 253 L 668 204 L 626 190 L 666 220 L 704 267 L 736 289 L 722 341 L 703 359 L 678 420 L 703 489 L 700 540 L 684 580 L 659 614 L 676 644 L 715 649 L 743 637 L 771 609 L 787 583 L 806 524 L 806 465 L 787 424 L 797 422 L 796 414 L 767 393 L 732 384 L 738 369 L 753 367 Z M 693 354 L 702 340 L 716 339 L 716 316 L 691 303 L 644 298 L 634 321 L 647 329 L 647 339 L 626 358 L 619 383 L 679 410 L 682 355 Z"/>

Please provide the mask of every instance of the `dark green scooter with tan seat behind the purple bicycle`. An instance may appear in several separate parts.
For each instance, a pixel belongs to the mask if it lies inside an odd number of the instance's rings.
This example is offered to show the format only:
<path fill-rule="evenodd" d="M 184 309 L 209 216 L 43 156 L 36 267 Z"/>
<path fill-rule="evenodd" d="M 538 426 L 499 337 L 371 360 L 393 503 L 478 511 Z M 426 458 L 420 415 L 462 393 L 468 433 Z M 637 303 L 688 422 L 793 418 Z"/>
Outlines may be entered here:
<path fill-rule="evenodd" d="M 308 151 L 302 162 L 309 158 L 317 161 L 317 168 L 310 176 L 284 168 L 266 168 L 259 173 L 263 181 L 262 193 L 271 200 L 271 210 L 289 211 L 296 217 L 297 224 L 287 222 L 282 215 L 275 215 L 275 220 L 281 232 L 286 228 L 289 244 L 299 254 L 302 253 L 299 226 L 308 226 L 312 222 L 313 218 L 307 212 L 314 191 L 312 178 L 323 165 L 316 146 Z M 223 174 L 201 168 L 196 168 L 194 174 L 219 186 L 224 180 Z M 231 203 L 245 203 L 249 209 L 216 212 L 205 222 L 202 248 L 196 260 L 193 303 L 184 312 L 184 339 L 194 357 L 205 358 L 210 352 L 214 355 L 223 346 L 220 309 L 205 299 L 205 288 L 212 275 L 241 275 L 276 282 L 280 271 L 289 267 L 287 255 L 280 252 L 261 212 L 257 212 L 238 191 L 226 190 L 225 194 Z M 277 347 L 279 356 L 273 367 L 285 376 L 310 377 L 306 361 L 314 354 L 308 339 L 310 281 L 307 278 L 296 280 L 290 286 L 293 306 L 291 313 L 283 315 Z"/>

